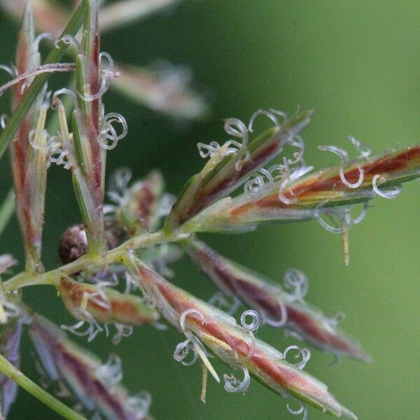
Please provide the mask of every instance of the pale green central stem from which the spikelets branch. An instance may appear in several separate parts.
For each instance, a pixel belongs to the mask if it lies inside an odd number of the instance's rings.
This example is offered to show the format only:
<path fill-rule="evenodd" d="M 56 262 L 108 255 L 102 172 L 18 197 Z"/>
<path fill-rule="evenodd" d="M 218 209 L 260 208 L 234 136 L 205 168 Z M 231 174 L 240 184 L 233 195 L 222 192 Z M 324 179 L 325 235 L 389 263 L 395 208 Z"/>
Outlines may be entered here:
<path fill-rule="evenodd" d="M 82 272 L 85 269 L 104 267 L 113 262 L 121 262 L 127 251 L 130 251 L 131 249 L 148 248 L 149 246 L 157 244 L 178 242 L 186 239 L 186 237 L 188 237 L 186 234 L 168 236 L 162 231 L 139 235 L 128 239 L 117 248 L 113 248 L 111 251 L 102 255 L 87 253 L 78 258 L 78 260 L 69 262 L 69 264 L 52 269 L 43 274 L 34 275 L 26 272 L 16 274 L 3 283 L 3 288 L 6 292 L 10 292 L 26 286 L 36 286 L 40 284 L 57 286 L 62 276 L 71 276 L 71 274 Z"/>

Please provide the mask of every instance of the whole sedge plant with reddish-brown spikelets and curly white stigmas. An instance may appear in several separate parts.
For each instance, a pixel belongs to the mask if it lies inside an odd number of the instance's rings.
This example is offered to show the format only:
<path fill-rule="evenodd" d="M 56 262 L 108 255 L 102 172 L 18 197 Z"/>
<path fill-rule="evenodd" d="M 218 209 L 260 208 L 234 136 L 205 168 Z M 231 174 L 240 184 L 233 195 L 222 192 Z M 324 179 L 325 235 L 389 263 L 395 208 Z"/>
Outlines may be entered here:
<path fill-rule="evenodd" d="M 225 139 L 197 144 L 204 165 L 177 196 L 165 191 L 158 171 L 132 181 L 129 169 L 119 169 L 106 190 L 106 155 L 128 130 L 123 116 L 105 111 L 109 87 L 177 118 L 207 112 L 204 99 L 168 69 L 162 73 L 114 64 L 100 47 L 101 31 L 174 1 L 122 0 L 99 8 L 97 0 L 83 0 L 71 16 L 41 0 L 3 3 L 10 15 L 22 15 L 22 29 L 15 64 L 1 66 L 10 75 L 0 94 L 10 90 L 11 113 L 1 117 L 0 155 L 9 153 L 13 191 L 3 197 L 0 227 L 14 206 L 25 271 L 10 275 L 16 261 L 1 255 L 1 416 L 8 416 L 20 386 L 66 419 L 92 414 L 109 420 L 151 419 L 151 395 L 127 393 L 118 356 L 103 363 L 71 340 L 72 334 L 85 337 L 88 347 L 105 334 L 112 346 L 148 324 L 179 331 L 173 357 L 182 365 L 201 365 L 203 402 L 209 380 L 228 393 L 246 393 L 256 379 L 286 399 L 290 414 L 302 419 L 308 418 L 309 407 L 325 416 L 357 419 L 342 398 L 304 370 L 312 347 L 370 361 L 360 344 L 338 328 L 339 316 L 328 317 L 305 300 L 305 274 L 288 269 L 283 283 L 272 281 L 225 258 L 200 239 L 200 232 L 241 233 L 264 223 L 314 219 L 342 235 L 348 264 L 349 229 L 363 220 L 376 197 L 393 199 L 402 183 L 419 177 L 420 146 L 373 155 L 369 146 L 349 137 L 348 150 L 319 146 L 337 156 L 337 165 L 314 169 L 305 162 L 301 137 L 312 111 L 258 110 L 246 122 L 227 118 Z M 45 61 L 38 51 L 41 41 L 50 43 Z M 51 91 L 51 73 L 71 73 L 71 83 Z M 263 130 L 258 128 L 262 120 L 268 124 Z M 279 163 L 270 166 L 275 158 Z M 51 165 L 71 173 L 80 223 L 60 239 L 63 265 L 46 271 L 41 251 Z M 209 302 L 168 280 L 168 265 L 182 255 L 218 289 Z M 24 302 L 22 289 L 39 285 L 57 290 L 73 325 L 55 325 L 36 313 L 29 293 Z M 239 313 L 241 305 L 245 309 Z M 258 338 L 262 327 L 283 330 L 296 344 L 274 349 Z M 19 370 L 24 332 L 43 386 Z M 225 373 L 216 370 L 214 358 L 226 366 Z M 58 391 L 55 396 L 52 390 Z M 78 412 L 60 402 L 63 395 L 72 395 Z"/>

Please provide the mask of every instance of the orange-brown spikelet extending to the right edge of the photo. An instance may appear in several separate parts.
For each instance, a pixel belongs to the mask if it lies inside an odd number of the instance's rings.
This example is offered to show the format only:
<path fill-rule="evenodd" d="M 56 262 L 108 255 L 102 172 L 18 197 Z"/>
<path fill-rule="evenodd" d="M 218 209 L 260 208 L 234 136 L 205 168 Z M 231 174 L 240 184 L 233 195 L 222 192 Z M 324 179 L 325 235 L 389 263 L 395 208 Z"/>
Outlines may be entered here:
<path fill-rule="evenodd" d="M 363 181 L 357 188 L 347 183 L 357 183 L 360 171 Z M 412 146 L 405 151 L 391 152 L 373 158 L 363 158 L 349 163 L 344 168 L 328 167 L 318 172 L 300 177 L 281 190 L 281 181 L 274 183 L 258 200 L 251 200 L 245 193 L 216 202 L 202 211 L 185 225 L 185 230 L 193 228 L 202 232 L 228 232 L 255 228 L 258 223 L 303 221 L 316 216 L 328 207 L 349 206 L 367 202 L 376 197 L 374 177 L 379 190 L 399 185 L 420 175 L 420 146 Z"/>

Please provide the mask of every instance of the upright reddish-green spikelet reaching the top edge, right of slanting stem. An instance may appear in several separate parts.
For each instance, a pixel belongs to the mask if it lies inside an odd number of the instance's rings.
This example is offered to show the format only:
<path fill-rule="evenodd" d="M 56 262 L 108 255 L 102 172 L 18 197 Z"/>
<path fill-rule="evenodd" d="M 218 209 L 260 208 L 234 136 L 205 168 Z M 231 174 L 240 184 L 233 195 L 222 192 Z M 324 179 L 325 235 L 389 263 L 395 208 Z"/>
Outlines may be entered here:
<path fill-rule="evenodd" d="M 73 111 L 73 144 L 77 168 L 73 185 L 79 202 L 87 242 L 92 252 L 104 251 L 104 171 L 106 151 L 99 145 L 102 101 L 99 74 L 99 28 L 96 0 L 89 0 L 83 38 L 76 59 L 78 108 Z"/>

